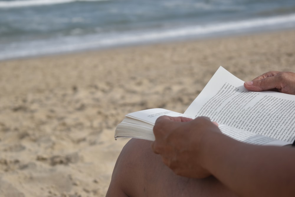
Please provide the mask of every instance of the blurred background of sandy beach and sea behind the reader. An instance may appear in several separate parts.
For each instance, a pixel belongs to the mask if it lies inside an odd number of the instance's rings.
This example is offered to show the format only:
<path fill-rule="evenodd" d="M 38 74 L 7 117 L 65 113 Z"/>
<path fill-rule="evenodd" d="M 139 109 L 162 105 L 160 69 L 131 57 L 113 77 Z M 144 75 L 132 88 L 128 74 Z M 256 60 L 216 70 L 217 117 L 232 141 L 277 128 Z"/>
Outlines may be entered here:
<path fill-rule="evenodd" d="M 294 43 L 294 0 L 0 0 L 0 196 L 104 197 L 127 113 L 295 72 Z"/>

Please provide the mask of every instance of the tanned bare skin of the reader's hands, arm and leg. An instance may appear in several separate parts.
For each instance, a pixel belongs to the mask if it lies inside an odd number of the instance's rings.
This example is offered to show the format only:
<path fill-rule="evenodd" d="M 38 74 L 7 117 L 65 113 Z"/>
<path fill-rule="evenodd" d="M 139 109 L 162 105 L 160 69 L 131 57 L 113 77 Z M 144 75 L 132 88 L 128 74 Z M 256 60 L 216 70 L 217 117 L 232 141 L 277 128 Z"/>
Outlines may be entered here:
<path fill-rule="evenodd" d="M 253 91 L 276 88 L 294 94 L 294 73 L 271 71 L 244 86 Z M 236 141 L 205 117 L 160 117 L 154 133 L 152 145 L 131 139 L 124 146 L 107 197 L 295 194 L 294 148 Z"/>

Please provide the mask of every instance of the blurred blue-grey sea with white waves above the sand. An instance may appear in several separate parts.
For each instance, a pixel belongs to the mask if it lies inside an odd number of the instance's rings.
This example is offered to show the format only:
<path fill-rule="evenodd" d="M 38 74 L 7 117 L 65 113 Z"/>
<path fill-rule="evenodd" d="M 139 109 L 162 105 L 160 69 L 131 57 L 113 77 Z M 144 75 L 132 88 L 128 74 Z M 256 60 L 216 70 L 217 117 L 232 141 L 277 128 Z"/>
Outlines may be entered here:
<path fill-rule="evenodd" d="M 289 28 L 294 0 L 0 0 L 0 60 Z"/>

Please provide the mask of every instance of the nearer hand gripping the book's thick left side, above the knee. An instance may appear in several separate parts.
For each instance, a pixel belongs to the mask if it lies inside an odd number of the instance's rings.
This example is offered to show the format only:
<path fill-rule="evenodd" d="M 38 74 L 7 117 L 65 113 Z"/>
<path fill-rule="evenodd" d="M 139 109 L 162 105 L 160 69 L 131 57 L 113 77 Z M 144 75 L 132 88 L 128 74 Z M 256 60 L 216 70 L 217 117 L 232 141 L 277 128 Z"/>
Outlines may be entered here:
<path fill-rule="evenodd" d="M 211 175 L 201 164 L 204 152 L 201 144 L 207 135 L 220 133 L 217 123 L 212 123 L 207 117 L 193 120 L 161 116 L 156 120 L 153 131 L 155 141 L 152 149 L 162 156 L 164 164 L 173 172 L 191 178 Z"/>

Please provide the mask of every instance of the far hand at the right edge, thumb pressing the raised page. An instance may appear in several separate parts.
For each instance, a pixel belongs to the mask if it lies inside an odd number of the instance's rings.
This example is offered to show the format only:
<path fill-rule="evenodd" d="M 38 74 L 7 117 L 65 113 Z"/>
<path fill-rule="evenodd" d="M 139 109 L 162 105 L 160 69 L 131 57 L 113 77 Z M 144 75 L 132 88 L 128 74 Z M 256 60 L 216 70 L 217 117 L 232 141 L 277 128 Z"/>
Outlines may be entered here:
<path fill-rule="evenodd" d="M 295 95 L 295 73 L 269 71 L 245 82 L 244 87 L 252 91 L 272 90 Z"/>

